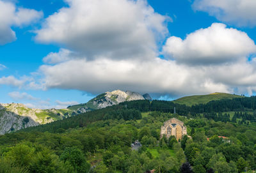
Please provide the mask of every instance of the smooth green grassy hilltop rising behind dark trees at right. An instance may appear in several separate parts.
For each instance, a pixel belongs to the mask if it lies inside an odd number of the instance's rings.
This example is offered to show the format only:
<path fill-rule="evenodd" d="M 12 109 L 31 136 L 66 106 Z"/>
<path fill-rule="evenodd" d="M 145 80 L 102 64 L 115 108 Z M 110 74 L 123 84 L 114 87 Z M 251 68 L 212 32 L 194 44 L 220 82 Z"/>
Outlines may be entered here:
<path fill-rule="evenodd" d="M 221 99 L 232 99 L 232 98 L 241 98 L 243 96 L 235 95 L 235 94 L 228 94 L 228 93 L 212 93 L 206 95 L 196 95 L 196 96 L 185 96 L 174 100 L 174 103 L 184 104 L 188 106 L 196 105 L 199 103 L 208 103 L 212 100 L 221 100 Z"/>

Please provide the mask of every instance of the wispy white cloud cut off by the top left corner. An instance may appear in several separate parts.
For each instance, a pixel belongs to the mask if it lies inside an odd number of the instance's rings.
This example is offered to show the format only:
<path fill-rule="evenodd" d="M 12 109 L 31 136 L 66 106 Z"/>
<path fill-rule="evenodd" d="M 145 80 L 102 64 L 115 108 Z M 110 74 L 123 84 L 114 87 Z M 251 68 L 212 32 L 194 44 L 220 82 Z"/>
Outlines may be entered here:
<path fill-rule="evenodd" d="M 17 8 L 15 4 L 0 0 L 0 45 L 16 40 L 12 26 L 22 27 L 42 17 L 42 11 Z"/>

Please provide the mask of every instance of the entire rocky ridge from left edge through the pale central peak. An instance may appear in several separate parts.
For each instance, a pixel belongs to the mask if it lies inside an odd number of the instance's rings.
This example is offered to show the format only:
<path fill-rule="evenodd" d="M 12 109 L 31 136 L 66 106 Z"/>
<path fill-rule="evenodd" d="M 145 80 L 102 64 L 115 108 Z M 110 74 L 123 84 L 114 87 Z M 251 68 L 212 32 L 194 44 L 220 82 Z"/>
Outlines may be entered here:
<path fill-rule="evenodd" d="M 145 98 L 132 91 L 112 91 L 100 94 L 87 103 L 74 105 L 67 109 L 29 109 L 20 103 L 0 104 L 0 135 L 10 133 L 30 126 L 51 123 L 52 121 L 76 116 L 84 112 L 102 109 L 111 105 L 132 100 L 150 100 L 149 94 Z"/>

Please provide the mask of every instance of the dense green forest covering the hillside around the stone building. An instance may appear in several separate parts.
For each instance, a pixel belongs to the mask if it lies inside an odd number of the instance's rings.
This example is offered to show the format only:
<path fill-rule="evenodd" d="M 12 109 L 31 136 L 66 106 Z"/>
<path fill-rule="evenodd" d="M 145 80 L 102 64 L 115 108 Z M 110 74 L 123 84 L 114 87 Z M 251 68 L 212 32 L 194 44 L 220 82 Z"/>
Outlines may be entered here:
<path fill-rule="evenodd" d="M 0 172 L 253 172 L 255 99 L 192 107 L 124 102 L 1 135 Z M 191 139 L 159 138 L 171 117 L 186 124 Z M 131 148 L 135 140 L 138 151 Z"/>

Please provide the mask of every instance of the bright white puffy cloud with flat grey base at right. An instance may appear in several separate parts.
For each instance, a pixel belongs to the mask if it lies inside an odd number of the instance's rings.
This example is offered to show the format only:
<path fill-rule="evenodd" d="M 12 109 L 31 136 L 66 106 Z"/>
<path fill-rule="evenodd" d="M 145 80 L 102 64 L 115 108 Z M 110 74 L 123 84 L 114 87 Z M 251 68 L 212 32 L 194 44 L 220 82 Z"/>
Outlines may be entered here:
<path fill-rule="evenodd" d="M 163 51 L 178 63 L 220 64 L 255 53 L 256 45 L 246 33 L 214 23 L 188 34 L 184 40 L 171 36 Z"/>

